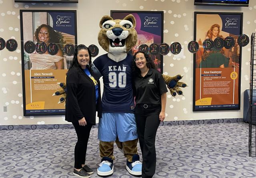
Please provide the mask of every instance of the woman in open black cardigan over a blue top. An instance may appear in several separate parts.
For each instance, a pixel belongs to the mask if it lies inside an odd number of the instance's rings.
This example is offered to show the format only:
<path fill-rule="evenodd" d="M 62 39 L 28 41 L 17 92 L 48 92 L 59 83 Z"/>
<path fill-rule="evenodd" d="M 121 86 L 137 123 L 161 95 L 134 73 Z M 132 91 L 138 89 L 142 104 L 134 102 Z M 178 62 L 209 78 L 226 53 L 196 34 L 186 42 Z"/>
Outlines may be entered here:
<path fill-rule="evenodd" d="M 101 97 L 100 81 L 94 77 L 91 53 L 85 45 L 76 47 L 66 83 L 66 121 L 72 122 L 78 138 L 73 174 L 89 178 L 93 171 L 85 165 L 87 143 L 92 125 L 96 124 L 96 111 L 101 117 Z"/>

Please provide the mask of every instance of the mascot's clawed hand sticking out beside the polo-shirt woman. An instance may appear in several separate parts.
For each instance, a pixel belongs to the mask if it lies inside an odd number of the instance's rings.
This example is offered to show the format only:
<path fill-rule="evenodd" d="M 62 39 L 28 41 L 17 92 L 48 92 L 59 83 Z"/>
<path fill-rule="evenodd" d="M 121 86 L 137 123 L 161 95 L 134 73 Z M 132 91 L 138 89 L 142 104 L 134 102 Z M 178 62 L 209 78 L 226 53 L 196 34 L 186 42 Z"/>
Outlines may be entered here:
<path fill-rule="evenodd" d="M 174 77 L 170 77 L 168 75 L 163 75 L 164 81 L 173 97 L 175 97 L 177 93 L 178 95 L 183 95 L 183 92 L 180 89 L 180 87 L 184 88 L 188 86 L 186 83 L 179 82 L 179 80 L 182 79 L 183 76 L 184 75 L 176 75 Z"/>

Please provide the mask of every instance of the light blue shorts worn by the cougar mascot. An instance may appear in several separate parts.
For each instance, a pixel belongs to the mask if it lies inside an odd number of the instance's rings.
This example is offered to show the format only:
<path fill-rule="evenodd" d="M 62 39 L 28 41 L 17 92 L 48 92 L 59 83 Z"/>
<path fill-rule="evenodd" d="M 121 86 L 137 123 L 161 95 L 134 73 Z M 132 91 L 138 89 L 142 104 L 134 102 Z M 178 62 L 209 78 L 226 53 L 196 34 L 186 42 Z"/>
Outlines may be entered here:
<path fill-rule="evenodd" d="M 99 119 L 98 139 L 112 142 L 117 136 L 120 142 L 138 138 L 133 113 L 102 113 L 102 118 Z"/>

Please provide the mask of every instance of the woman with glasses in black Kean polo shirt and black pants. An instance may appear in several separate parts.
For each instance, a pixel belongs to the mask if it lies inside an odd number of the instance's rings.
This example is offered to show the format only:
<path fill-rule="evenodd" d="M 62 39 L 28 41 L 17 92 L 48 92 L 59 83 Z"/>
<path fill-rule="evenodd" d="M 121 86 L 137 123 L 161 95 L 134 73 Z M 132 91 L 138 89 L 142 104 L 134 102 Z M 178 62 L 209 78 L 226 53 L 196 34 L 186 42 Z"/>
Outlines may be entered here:
<path fill-rule="evenodd" d="M 153 61 L 143 51 L 133 56 L 135 119 L 142 151 L 142 178 L 151 178 L 156 170 L 156 131 L 165 118 L 166 84 Z"/>

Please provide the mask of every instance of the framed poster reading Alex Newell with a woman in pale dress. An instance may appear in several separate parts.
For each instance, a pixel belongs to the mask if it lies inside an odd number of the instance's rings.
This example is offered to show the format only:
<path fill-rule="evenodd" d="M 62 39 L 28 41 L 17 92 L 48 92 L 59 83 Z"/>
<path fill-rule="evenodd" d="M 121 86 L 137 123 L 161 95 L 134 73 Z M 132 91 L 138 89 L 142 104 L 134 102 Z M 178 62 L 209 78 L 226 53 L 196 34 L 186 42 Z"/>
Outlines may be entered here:
<path fill-rule="evenodd" d="M 24 116 L 64 115 L 52 95 L 73 59 L 65 46 L 77 44 L 76 10 L 20 10 L 20 29 Z"/>

